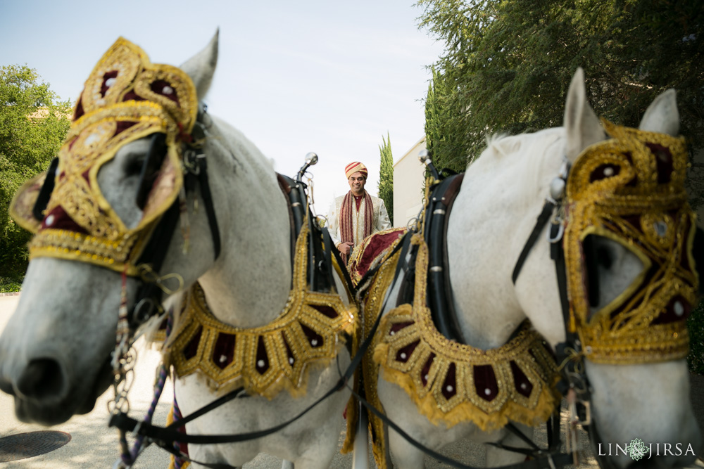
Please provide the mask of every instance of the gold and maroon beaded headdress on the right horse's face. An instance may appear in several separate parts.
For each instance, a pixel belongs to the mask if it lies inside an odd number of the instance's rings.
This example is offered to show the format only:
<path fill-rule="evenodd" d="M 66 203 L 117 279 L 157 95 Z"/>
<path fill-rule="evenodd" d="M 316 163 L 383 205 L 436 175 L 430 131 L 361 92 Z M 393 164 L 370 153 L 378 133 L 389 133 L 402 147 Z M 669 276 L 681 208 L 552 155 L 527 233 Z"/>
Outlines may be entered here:
<path fill-rule="evenodd" d="M 567 179 L 570 330 L 579 333 L 586 357 L 597 363 L 684 358 L 689 351 L 684 319 L 698 290 L 684 138 L 603 125 L 612 139 L 586 148 Z M 583 252 L 590 235 L 621 243 L 644 266 L 626 291 L 593 313 Z"/>

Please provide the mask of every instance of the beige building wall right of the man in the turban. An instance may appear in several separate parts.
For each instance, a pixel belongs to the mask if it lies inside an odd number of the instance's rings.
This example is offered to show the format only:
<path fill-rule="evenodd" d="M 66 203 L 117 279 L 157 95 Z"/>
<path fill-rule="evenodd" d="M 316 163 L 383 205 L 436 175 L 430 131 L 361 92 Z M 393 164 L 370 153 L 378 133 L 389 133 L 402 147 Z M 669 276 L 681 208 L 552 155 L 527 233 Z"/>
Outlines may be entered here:
<path fill-rule="evenodd" d="M 418 160 L 425 136 L 394 163 L 394 226 L 406 226 L 423 206 L 425 165 Z"/>

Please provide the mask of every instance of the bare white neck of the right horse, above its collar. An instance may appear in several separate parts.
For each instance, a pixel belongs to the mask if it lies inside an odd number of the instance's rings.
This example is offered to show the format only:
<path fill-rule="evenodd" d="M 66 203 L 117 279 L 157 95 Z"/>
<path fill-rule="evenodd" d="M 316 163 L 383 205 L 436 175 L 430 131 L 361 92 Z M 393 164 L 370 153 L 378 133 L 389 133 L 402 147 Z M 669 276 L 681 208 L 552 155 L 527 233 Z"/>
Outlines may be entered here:
<path fill-rule="evenodd" d="M 560 129 L 548 129 L 495 141 L 467 169 L 448 221 L 447 243 L 455 310 L 468 345 L 499 347 L 527 316 L 533 321 L 511 276 L 558 174 L 561 136 Z M 531 260 L 545 259 L 537 271 L 531 264 L 531 276 L 554 272 L 544 239 L 539 238 Z M 543 295 L 545 282 L 532 283 Z M 553 302 L 552 297 L 544 300 Z"/>

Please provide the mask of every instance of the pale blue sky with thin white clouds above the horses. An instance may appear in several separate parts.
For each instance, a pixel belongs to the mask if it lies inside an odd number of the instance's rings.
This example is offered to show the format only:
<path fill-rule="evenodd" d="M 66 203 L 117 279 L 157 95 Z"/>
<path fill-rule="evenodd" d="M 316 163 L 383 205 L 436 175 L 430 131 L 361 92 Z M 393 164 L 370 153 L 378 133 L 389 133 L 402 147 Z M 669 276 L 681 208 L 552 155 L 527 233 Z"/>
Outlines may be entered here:
<path fill-rule="evenodd" d="M 205 103 L 294 176 L 306 153 L 314 210 L 349 189 L 348 162 L 367 165 L 377 195 L 379 146 L 394 162 L 424 135 L 430 72 L 443 46 L 419 30 L 406 0 L 0 0 L 0 65 L 27 65 L 62 99 L 122 36 L 152 63 L 180 65 L 220 28 Z"/>

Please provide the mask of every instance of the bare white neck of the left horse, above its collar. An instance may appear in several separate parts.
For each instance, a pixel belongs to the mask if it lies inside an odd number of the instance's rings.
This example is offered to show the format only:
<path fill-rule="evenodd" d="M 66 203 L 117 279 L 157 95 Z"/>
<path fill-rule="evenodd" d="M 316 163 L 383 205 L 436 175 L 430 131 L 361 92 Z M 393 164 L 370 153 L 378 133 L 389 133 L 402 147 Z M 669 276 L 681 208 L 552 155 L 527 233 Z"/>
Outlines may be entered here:
<path fill-rule="evenodd" d="M 291 245 L 287 202 L 276 174 L 239 131 L 221 122 L 208 162 L 222 252 L 199 278 L 215 317 L 238 327 L 263 326 L 287 302 Z"/>

